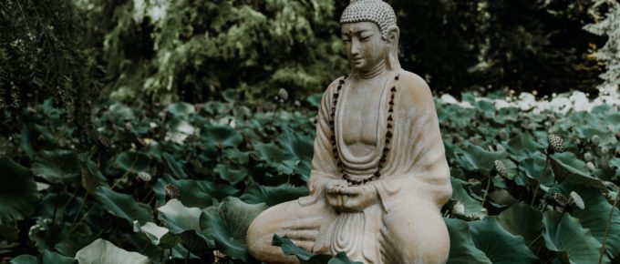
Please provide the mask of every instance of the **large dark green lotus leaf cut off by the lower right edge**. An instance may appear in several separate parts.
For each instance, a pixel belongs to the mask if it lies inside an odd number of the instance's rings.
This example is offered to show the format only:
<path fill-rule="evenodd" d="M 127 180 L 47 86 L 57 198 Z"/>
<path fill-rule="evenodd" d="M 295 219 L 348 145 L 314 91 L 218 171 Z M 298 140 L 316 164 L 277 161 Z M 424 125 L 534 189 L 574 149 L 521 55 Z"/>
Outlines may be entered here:
<path fill-rule="evenodd" d="M 618 208 L 612 207 L 603 194 L 596 189 L 575 189 L 574 191 L 584 200 L 585 208 L 583 210 L 574 208 L 571 215 L 578 218 L 584 228 L 590 229 L 594 239 L 601 244 L 605 238 L 607 218 L 609 218 L 612 208 L 614 209 L 607 230 L 605 249 L 611 259 L 615 259 L 620 255 L 620 211 Z"/>

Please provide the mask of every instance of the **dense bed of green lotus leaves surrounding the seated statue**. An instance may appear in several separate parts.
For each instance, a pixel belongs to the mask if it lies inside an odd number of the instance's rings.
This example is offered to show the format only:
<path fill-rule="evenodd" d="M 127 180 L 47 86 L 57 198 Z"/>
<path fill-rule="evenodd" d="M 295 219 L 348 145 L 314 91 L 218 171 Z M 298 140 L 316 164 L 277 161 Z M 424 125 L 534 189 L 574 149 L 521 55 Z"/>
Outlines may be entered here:
<path fill-rule="evenodd" d="M 253 112 L 224 96 L 154 111 L 106 105 L 88 151 L 74 148 L 63 109 L 27 111 L 21 134 L 0 138 L 0 252 L 26 254 L 13 263 L 82 263 L 104 250 L 134 263 L 252 262 L 250 221 L 307 194 L 315 109 Z M 620 112 L 535 114 L 463 98 L 475 108 L 437 101 L 454 188 L 442 210 L 449 263 L 617 259 Z"/>

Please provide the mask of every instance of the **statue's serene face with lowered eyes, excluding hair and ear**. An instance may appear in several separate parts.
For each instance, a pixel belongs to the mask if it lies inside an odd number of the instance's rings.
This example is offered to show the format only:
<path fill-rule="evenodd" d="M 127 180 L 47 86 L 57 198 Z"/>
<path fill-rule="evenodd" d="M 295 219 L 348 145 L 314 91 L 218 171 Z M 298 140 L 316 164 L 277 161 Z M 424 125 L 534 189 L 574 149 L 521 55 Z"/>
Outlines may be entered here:
<path fill-rule="evenodd" d="M 381 38 L 379 27 L 372 22 L 357 22 L 341 26 L 346 57 L 357 70 L 369 71 L 384 63 L 389 48 Z"/>

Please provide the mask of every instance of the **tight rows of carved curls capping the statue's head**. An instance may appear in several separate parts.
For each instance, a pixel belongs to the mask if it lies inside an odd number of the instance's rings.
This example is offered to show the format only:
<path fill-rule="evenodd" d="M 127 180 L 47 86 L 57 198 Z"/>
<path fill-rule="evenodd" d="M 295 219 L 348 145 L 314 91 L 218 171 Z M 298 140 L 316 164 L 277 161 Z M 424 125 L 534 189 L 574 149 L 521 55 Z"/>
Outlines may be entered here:
<path fill-rule="evenodd" d="M 378 25 L 381 37 L 387 39 L 387 28 L 396 25 L 392 6 L 383 0 L 351 0 L 340 16 L 340 24 L 373 22 Z"/>

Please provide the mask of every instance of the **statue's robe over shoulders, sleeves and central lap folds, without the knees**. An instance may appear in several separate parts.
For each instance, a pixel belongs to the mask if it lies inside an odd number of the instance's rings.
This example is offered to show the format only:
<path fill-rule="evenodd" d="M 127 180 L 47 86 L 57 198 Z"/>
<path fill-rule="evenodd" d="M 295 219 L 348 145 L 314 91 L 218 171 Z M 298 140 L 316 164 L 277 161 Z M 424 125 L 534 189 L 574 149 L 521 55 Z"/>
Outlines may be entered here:
<path fill-rule="evenodd" d="M 315 156 L 308 182 L 310 196 L 299 199 L 302 207 L 325 199 L 325 184 L 342 178 L 333 154 L 334 147 L 330 141 L 332 131 L 329 127 L 333 96 L 341 79 L 343 77 L 328 86 L 322 98 L 317 118 Z M 354 177 L 372 175 L 377 170 L 384 147 L 390 150 L 384 168 L 381 169 L 381 177 L 371 182 L 377 189 L 377 205 L 359 213 L 339 213 L 333 223 L 319 232 L 313 249 L 317 253 L 336 254 L 346 251 L 352 259 L 365 263 L 383 263 L 385 261 L 381 259 L 385 259 L 386 253 L 381 252 L 381 228 L 386 228 L 382 222 L 385 215 L 399 207 L 430 208 L 439 213 L 451 196 L 449 167 L 429 86 L 419 76 L 404 71 L 393 85 L 397 87 L 393 113 L 394 136 L 389 145 L 385 146 L 389 87 L 392 87 L 388 85 L 379 98 L 378 120 L 367 120 L 365 128 L 377 129 L 377 140 L 374 153 L 365 157 L 354 156 L 344 143 L 346 133 L 342 133 L 342 130 L 345 118 L 350 116 L 346 113 L 346 105 L 347 91 L 351 87 L 345 85 L 340 92 L 335 131 L 338 156 L 346 173 Z M 373 124 L 378 126 L 372 127 Z M 410 218 L 415 221 L 416 216 Z"/>

